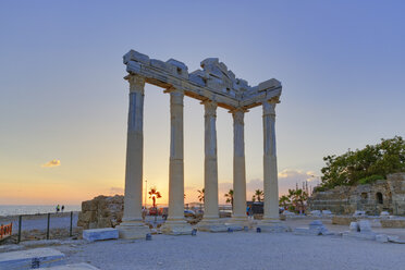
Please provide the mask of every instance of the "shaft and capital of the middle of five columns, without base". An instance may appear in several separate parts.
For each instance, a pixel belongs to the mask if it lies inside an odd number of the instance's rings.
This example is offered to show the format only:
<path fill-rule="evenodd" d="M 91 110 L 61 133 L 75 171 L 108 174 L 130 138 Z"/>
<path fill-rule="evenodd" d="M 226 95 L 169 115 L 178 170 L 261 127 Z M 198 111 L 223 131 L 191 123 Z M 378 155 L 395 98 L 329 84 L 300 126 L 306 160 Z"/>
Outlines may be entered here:
<path fill-rule="evenodd" d="M 218 158 L 217 158 L 217 102 L 207 100 L 205 107 L 205 167 L 204 218 L 218 219 Z"/>

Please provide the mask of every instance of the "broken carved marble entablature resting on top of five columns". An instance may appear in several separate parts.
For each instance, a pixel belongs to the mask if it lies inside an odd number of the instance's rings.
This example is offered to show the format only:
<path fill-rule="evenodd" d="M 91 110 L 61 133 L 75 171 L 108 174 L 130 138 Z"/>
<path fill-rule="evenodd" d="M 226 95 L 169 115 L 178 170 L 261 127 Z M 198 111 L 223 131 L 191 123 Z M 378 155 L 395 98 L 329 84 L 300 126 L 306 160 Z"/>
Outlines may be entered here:
<path fill-rule="evenodd" d="M 187 65 L 177 60 L 163 62 L 131 50 L 124 56 L 124 64 L 130 75 L 143 76 L 149 84 L 179 88 L 186 96 L 202 101 L 210 99 L 230 110 L 249 109 L 261 105 L 263 100 L 278 102 L 282 90 L 281 83 L 275 78 L 249 86 L 218 58 L 205 59 L 200 63 L 202 70 L 188 73 Z"/>

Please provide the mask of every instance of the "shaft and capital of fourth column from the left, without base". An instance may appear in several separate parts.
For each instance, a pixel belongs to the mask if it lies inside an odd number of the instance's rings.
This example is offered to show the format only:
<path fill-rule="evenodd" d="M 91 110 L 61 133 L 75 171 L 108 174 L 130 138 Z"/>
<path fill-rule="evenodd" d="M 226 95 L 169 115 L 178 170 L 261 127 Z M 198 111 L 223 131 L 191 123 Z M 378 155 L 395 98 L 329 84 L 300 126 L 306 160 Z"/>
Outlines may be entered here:
<path fill-rule="evenodd" d="M 237 109 L 233 115 L 233 214 L 234 221 L 246 221 L 246 171 L 245 171 L 245 111 Z"/>

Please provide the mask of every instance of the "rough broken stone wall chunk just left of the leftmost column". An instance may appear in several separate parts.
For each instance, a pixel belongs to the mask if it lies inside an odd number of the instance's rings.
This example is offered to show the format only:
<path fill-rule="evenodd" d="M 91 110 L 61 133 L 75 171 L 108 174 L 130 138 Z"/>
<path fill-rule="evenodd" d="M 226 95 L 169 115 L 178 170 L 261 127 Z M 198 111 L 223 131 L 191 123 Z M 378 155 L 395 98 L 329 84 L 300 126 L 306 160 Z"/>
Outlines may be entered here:
<path fill-rule="evenodd" d="M 77 226 L 83 229 L 114 228 L 122 222 L 124 196 L 98 196 L 82 202 Z"/>

